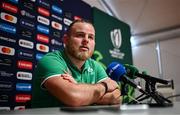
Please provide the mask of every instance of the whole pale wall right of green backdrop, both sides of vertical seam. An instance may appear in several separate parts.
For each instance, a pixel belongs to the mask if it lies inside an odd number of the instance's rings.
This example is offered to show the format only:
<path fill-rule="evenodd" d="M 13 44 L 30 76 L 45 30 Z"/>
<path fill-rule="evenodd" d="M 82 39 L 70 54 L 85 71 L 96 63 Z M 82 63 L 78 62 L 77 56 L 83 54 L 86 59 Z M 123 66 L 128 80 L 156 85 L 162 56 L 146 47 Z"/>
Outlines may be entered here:
<path fill-rule="evenodd" d="M 173 79 L 175 94 L 180 94 L 180 38 L 160 41 L 163 79 Z M 132 48 L 133 63 L 149 75 L 159 76 L 156 43 L 139 45 Z M 176 98 L 180 100 L 180 98 Z"/>

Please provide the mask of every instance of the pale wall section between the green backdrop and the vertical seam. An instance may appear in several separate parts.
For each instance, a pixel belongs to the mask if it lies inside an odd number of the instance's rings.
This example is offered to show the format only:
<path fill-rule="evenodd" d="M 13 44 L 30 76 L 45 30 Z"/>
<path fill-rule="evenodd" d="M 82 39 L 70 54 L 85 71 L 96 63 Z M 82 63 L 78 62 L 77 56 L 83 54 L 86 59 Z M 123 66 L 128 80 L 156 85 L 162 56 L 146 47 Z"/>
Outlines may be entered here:
<path fill-rule="evenodd" d="M 133 47 L 133 64 L 140 71 L 147 71 L 147 73 L 153 76 L 158 76 L 158 62 L 155 48 L 155 43 Z"/>

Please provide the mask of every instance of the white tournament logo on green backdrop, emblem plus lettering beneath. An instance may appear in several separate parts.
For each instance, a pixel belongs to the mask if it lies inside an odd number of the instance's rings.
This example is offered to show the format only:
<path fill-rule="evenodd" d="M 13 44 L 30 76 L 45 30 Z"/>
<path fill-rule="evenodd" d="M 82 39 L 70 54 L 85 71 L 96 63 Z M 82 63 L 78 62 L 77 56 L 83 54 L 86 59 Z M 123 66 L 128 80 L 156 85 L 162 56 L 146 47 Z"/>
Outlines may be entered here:
<path fill-rule="evenodd" d="M 125 54 L 120 51 L 120 47 L 122 44 L 121 30 L 120 29 L 112 30 L 110 32 L 110 36 L 111 36 L 111 42 L 114 49 L 112 50 L 110 49 L 109 53 L 114 58 L 123 59 Z"/>

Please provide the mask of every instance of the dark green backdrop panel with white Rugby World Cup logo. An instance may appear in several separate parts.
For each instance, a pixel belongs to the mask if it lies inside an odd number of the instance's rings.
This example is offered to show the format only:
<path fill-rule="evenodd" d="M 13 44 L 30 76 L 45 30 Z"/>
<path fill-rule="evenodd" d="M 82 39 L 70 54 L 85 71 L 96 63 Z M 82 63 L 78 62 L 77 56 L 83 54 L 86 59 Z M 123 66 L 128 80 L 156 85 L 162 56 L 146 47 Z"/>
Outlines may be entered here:
<path fill-rule="evenodd" d="M 106 68 L 111 62 L 132 64 L 132 51 L 130 43 L 130 27 L 128 24 L 93 8 L 93 22 L 96 29 L 96 48 L 93 58 Z M 123 103 L 132 100 L 134 88 L 123 82 L 121 93 Z"/>

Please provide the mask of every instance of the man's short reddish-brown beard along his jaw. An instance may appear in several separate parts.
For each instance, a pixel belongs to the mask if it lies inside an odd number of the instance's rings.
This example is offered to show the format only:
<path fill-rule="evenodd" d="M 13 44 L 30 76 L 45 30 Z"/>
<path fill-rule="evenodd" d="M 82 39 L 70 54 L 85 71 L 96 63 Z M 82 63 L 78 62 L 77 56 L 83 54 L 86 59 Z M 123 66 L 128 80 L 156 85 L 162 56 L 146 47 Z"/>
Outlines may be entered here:
<path fill-rule="evenodd" d="M 81 61 L 87 60 L 93 54 L 93 50 L 80 52 L 79 49 L 77 49 L 77 47 L 73 43 L 69 43 L 66 46 L 66 49 L 67 49 L 67 52 L 69 53 L 69 55 L 71 55 L 72 57 L 74 57 L 78 60 L 81 60 Z"/>

